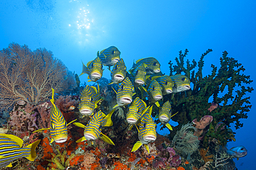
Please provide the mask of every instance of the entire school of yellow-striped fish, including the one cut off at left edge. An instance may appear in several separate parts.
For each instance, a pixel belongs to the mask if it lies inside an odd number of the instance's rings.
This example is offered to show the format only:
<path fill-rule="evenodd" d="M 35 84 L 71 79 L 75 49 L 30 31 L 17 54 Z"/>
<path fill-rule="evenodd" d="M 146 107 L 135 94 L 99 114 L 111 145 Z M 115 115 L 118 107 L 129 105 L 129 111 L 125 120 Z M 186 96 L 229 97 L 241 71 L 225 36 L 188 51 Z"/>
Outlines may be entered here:
<path fill-rule="evenodd" d="M 136 126 L 139 139 L 131 151 L 136 151 L 145 145 L 149 152 L 148 144 L 156 140 L 156 123 L 152 118 L 153 106 L 156 105 L 159 108 L 158 119 L 160 122 L 172 130 L 169 121 L 174 115 L 170 101 L 167 100 L 162 106 L 158 101 L 163 100 L 167 94 L 190 89 L 190 80 L 181 74 L 163 75 L 161 65 L 154 57 L 138 59 L 127 72 L 125 61 L 120 58 L 120 54 L 117 47 L 111 46 L 98 52 L 93 61 L 89 61 L 86 65 L 82 63 L 82 74 L 88 74 L 89 81 L 97 83 L 102 78 L 104 65 L 108 66 L 111 74 L 111 83 L 109 84 L 118 84 L 118 89 L 112 87 L 116 93 L 116 105 L 109 113 L 103 113 L 96 109 L 104 100 L 100 97 L 100 86 L 86 85 L 80 94 L 78 109 L 82 116 L 90 116 L 91 119 L 87 125 L 77 123 L 76 120 L 66 123 L 62 112 L 54 103 L 54 89 L 52 89 L 50 127 L 37 131 L 50 130 L 51 142 L 62 143 L 68 139 L 67 126 L 73 123 L 73 125 L 84 129 L 84 136 L 76 142 L 90 141 L 93 144 L 94 140 L 100 138 L 109 145 L 115 145 L 111 138 L 102 134 L 101 130 L 102 127 L 113 125 L 111 116 L 117 107 L 127 107 L 128 111 L 125 115 L 127 123 L 129 123 L 129 130 Z M 0 134 L 0 167 L 12 167 L 11 162 L 22 157 L 31 161 L 35 160 L 35 149 L 39 142 L 40 140 L 37 140 L 27 147 L 22 147 L 23 140 L 21 138 L 10 134 Z"/>

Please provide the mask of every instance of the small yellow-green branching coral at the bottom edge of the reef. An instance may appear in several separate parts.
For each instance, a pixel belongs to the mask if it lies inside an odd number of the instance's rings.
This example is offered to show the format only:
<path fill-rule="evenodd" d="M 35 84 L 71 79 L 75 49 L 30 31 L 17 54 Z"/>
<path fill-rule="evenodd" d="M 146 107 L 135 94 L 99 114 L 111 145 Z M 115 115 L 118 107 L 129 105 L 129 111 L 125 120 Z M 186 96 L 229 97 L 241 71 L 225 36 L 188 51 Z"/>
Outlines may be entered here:
<path fill-rule="evenodd" d="M 54 164 L 48 164 L 49 167 L 51 167 L 52 170 L 55 169 L 67 169 L 69 167 L 69 161 L 75 157 L 75 153 L 71 154 L 71 156 L 69 156 L 66 159 L 66 150 L 63 151 L 63 153 L 60 153 L 59 149 L 56 149 L 57 151 L 57 155 L 55 153 L 51 153 L 51 155 L 53 156 L 53 158 L 51 160 L 48 160 L 49 162 L 53 162 Z M 47 170 L 49 170 L 50 168 L 47 167 Z"/>

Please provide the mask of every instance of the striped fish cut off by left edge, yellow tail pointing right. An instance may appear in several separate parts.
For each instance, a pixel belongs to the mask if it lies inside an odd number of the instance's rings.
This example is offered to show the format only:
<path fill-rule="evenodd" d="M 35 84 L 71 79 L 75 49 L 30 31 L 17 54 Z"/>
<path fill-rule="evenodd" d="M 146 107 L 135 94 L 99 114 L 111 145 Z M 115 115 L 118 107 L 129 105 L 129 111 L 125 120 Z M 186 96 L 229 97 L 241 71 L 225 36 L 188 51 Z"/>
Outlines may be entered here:
<path fill-rule="evenodd" d="M 0 168 L 12 167 L 12 161 L 27 158 L 34 161 L 37 158 L 35 149 L 41 140 L 37 140 L 26 147 L 22 147 L 23 140 L 10 134 L 0 134 Z"/>

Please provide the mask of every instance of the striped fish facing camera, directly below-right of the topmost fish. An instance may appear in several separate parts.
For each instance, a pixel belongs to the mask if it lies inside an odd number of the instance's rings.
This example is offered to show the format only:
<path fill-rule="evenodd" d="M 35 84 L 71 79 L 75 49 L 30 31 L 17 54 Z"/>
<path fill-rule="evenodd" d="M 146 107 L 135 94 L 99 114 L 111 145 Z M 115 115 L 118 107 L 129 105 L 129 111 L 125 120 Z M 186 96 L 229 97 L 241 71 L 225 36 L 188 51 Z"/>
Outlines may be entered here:
<path fill-rule="evenodd" d="M 121 83 L 125 79 L 125 76 L 126 76 L 125 62 L 123 59 L 120 59 L 118 63 L 113 65 L 113 69 L 111 71 L 111 81 L 112 83 L 115 83 L 115 84 Z"/>

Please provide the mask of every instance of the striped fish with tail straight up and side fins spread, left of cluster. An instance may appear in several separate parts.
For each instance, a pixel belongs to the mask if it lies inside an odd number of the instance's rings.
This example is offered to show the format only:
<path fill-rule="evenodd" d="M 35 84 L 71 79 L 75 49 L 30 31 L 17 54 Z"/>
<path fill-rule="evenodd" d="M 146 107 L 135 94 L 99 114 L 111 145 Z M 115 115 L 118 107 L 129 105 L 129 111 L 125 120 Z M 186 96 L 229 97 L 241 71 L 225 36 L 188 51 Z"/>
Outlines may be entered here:
<path fill-rule="evenodd" d="M 66 120 L 64 119 L 62 112 L 54 104 L 53 96 L 54 96 L 54 89 L 52 88 L 52 98 L 51 98 L 52 107 L 50 111 L 50 128 L 39 129 L 37 131 L 44 131 L 44 130 L 50 129 L 51 137 L 52 137 L 51 143 L 53 141 L 57 143 L 62 143 L 62 142 L 66 142 L 66 140 L 68 139 L 68 130 L 66 129 L 66 126 L 73 123 L 76 119 L 66 124 Z M 37 131 L 33 131 L 33 133 Z"/>

